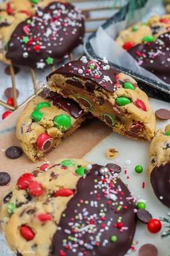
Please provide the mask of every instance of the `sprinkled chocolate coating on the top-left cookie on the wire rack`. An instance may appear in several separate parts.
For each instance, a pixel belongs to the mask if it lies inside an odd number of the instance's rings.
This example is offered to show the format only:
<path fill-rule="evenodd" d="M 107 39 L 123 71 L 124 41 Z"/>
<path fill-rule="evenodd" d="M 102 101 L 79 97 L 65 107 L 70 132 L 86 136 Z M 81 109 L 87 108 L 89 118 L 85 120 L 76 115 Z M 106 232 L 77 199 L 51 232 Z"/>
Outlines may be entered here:
<path fill-rule="evenodd" d="M 6 58 L 13 64 L 42 69 L 70 53 L 83 36 L 81 12 L 71 4 L 53 2 L 17 26 Z"/>

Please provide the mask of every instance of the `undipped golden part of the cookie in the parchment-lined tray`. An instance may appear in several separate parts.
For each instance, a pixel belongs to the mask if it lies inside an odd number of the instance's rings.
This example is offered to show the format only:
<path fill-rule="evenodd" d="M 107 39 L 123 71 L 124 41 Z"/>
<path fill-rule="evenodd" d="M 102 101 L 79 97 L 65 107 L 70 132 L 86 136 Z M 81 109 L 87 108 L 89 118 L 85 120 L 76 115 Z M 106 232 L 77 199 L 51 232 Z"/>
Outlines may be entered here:
<path fill-rule="evenodd" d="M 169 31 L 170 15 L 166 14 L 162 17 L 154 15 L 148 22 L 138 23 L 128 29 L 122 30 L 116 42 L 128 50 L 138 43 L 155 40 L 159 35 Z"/>

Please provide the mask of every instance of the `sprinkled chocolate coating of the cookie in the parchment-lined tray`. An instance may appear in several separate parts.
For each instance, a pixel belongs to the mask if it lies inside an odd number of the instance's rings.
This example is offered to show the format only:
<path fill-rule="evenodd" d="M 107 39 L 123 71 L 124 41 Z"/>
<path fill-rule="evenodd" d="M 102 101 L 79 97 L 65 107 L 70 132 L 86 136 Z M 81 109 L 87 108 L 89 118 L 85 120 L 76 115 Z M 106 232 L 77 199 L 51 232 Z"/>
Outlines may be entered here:
<path fill-rule="evenodd" d="M 128 53 L 138 64 L 156 74 L 164 82 L 170 83 L 170 32 L 160 35 L 155 42 L 140 43 L 130 48 Z"/>

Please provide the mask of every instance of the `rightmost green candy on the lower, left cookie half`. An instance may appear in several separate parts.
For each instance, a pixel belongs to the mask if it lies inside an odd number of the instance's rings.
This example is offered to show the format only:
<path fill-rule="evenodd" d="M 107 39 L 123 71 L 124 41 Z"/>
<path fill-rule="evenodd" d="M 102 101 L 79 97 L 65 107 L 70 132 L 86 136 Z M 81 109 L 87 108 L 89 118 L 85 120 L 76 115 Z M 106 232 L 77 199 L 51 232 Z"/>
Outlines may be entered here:
<path fill-rule="evenodd" d="M 61 130 L 61 132 L 66 132 L 71 127 L 71 117 L 65 114 L 55 116 L 54 126 Z"/>

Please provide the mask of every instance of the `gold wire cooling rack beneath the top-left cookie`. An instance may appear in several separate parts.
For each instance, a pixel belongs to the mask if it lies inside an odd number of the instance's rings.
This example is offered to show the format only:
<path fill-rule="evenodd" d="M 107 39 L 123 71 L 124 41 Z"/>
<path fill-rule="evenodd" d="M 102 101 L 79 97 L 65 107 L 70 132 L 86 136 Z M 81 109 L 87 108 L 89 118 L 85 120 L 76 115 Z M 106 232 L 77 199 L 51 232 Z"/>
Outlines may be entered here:
<path fill-rule="evenodd" d="M 115 0 L 68 0 L 68 2 L 71 2 L 75 4 L 84 14 L 85 22 L 86 22 L 86 35 L 89 35 L 89 33 L 93 33 L 95 30 L 97 30 L 97 27 L 102 24 L 105 20 L 107 20 L 109 17 L 111 17 L 115 12 L 117 12 L 123 4 L 125 4 L 124 0 L 119 1 L 120 5 L 115 7 Z M 68 58 L 65 59 L 65 61 L 71 61 L 75 58 L 78 58 L 79 56 L 82 56 L 84 54 L 83 46 L 79 48 L 79 53 L 77 54 L 75 51 L 73 51 L 71 54 L 68 55 Z M 19 69 L 22 69 L 19 67 Z M 24 69 L 24 68 L 23 68 Z M 54 71 L 56 69 L 56 65 L 53 65 L 51 69 L 48 71 L 45 69 L 43 73 L 48 74 L 50 71 Z M 19 106 L 24 105 L 25 103 L 28 103 L 32 98 L 35 97 L 35 95 L 38 95 L 42 88 L 40 86 L 37 86 L 37 70 L 36 69 L 27 69 L 27 73 L 24 80 L 28 80 L 31 77 L 30 85 L 32 87 L 32 94 L 31 95 L 24 95 L 24 101 L 18 103 L 17 99 L 17 82 L 16 82 L 16 74 L 14 74 L 14 66 L 11 64 L 9 66 L 10 70 L 10 76 L 11 76 L 11 82 L 12 82 L 12 93 L 14 98 L 14 106 L 10 106 L 7 104 L 3 98 L 0 99 L 0 105 L 4 106 L 4 108 L 7 108 L 11 111 L 14 111 Z M 3 78 L 1 79 L 1 82 L 3 82 Z M 23 80 L 22 80 L 23 83 Z M 26 91 L 25 91 L 26 93 Z M 22 95 L 24 94 L 24 85 L 22 86 Z"/>

